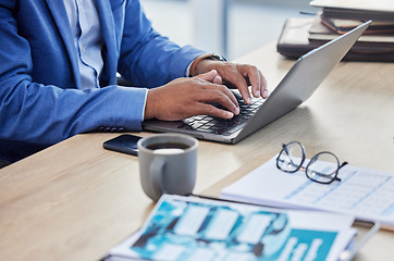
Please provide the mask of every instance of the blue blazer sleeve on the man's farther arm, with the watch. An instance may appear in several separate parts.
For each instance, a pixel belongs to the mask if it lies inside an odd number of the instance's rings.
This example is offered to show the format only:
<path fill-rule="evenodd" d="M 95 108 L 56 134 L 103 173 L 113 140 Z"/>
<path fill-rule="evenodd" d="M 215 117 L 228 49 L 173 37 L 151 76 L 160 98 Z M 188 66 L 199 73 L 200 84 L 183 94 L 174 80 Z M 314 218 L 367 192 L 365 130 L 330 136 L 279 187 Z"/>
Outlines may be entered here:
<path fill-rule="evenodd" d="M 127 1 L 121 40 L 119 71 L 135 86 L 155 87 L 185 76 L 186 67 L 206 52 L 180 48 L 152 27 L 139 0 Z"/>

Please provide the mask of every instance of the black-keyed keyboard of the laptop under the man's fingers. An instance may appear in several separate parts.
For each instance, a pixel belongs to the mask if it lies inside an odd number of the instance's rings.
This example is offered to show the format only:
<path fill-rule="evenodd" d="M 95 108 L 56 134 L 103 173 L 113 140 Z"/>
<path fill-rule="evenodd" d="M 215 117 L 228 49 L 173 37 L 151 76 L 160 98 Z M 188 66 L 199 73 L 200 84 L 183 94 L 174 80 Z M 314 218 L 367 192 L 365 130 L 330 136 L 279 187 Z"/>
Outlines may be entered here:
<path fill-rule="evenodd" d="M 229 136 L 237 132 L 246 122 L 253 117 L 256 111 L 264 101 L 261 98 L 251 98 L 251 104 L 247 104 L 241 96 L 235 95 L 239 104 L 239 114 L 230 120 L 213 117 L 208 115 L 197 115 L 183 120 L 178 128 L 192 129 L 208 134 Z M 219 105 L 218 108 L 223 109 Z"/>

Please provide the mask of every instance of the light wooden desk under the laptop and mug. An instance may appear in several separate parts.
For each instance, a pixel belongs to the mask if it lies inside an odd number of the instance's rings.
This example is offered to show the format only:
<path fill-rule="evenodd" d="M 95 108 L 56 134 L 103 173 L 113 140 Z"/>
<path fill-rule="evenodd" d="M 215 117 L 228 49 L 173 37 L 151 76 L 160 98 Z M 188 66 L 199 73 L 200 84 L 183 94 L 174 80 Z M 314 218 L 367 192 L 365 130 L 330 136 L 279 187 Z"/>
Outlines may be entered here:
<path fill-rule="evenodd" d="M 294 63 L 274 45 L 239 61 L 260 67 L 271 89 Z M 341 63 L 306 104 L 239 144 L 201 141 L 195 192 L 218 194 L 212 185 L 291 140 L 308 156 L 329 150 L 393 172 L 393 72 L 390 63 Z M 0 260 L 98 260 L 141 225 L 153 204 L 140 188 L 137 158 L 101 146 L 116 135 L 77 135 L 0 170 Z M 390 260 L 393 246 L 394 233 L 379 232 L 357 260 Z"/>

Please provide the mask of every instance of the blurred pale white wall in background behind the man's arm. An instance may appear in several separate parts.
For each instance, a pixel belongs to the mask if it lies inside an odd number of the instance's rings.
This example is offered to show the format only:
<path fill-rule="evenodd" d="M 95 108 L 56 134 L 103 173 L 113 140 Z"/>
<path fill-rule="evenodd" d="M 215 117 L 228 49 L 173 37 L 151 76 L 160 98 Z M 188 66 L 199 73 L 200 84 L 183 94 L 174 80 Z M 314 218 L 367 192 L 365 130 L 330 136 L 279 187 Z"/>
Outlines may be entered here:
<path fill-rule="evenodd" d="M 218 26 L 222 0 L 140 0 L 155 28 L 180 45 L 192 44 L 220 52 Z M 204 3 L 198 12 L 194 4 Z M 229 0 L 226 57 L 234 59 L 258 47 L 276 41 L 287 17 L 299 11 L 316 12 L 308 0 Z M 211 4 L 211 5 L 209 5 Z M 207 10 L 206 12 L 204 10 Z M 217 16 L 214 12 L 218 12 Z M 195 17 L 198 14 L 198 17 Z M 204 15 L 204 16 L 202 16 Z M 200 25 L 199 28 L 196 26 Z M 210 26 L 211 25 L 211 26 Z M 208 32 L 208 33 L 207 33 Z"/>

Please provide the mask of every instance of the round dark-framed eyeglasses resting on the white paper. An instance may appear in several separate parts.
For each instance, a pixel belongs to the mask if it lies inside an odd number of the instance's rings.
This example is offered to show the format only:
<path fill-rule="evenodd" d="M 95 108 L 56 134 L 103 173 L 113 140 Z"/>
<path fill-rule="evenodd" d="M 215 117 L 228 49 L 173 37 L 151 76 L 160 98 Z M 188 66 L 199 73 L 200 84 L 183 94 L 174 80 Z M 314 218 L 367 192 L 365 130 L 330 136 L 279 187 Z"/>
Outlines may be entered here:
<path fill-rule="evenodd" d="M 298 170 L 305 171 L 308 178 L 321 184 L 330 184 L 334 181 L 341 182 L 337 177 L 338 171 L 347 164 L 331 152 L 322 151 L 310 159 L 306 167 L 303 166 L 306 154 L 304 146 L 298 141 L 282 145 L 282 150 L 276 158 L 279 170 L 287 173 L 295 173 Z"/>

